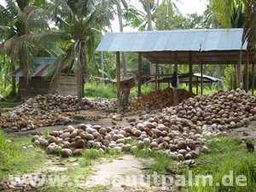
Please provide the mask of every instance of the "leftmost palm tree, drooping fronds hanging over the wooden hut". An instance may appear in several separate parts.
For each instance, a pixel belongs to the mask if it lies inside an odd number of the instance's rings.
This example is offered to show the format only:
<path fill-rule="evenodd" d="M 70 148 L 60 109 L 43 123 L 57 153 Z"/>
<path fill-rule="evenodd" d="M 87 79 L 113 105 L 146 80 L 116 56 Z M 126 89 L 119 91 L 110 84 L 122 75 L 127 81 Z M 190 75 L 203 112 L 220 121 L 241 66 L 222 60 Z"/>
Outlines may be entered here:
<path fill-rule="evenodd" d="M 41 1 L 44 5 L 45 1 Z M 4 55 L 9 55 L 12 71 L 15 66 L 23 67 L 27 79 L 34 69 L 33 58 L 41 46 L 34 46 L 38 38 L 38 29 L 42 32 L 48 27 L 44 10 L 33 5 L 38 1 L 6 0 L 6 8 L 0 7 L 0 49 Z M 12 94 L 15 95 L 15 77 L 12 79 Z"/>

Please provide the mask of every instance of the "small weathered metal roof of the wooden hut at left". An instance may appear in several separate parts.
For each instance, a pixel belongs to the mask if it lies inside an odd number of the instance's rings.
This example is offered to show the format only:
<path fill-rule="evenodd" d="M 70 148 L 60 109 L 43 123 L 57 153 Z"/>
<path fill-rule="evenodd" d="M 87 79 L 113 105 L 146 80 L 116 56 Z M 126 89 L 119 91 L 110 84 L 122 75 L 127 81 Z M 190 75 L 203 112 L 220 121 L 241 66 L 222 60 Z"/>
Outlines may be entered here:
<path fill-rule="evenodd" d="M 31 74 L 31 77 L 45 77 L 48 74 L 47 69 L 52 63 L 54 63 L 54 61 L 55 61 L 55 58 L 37 57 L 35 59 L 37 67 L 35 71 Z M 26 73 L 24 73 L 23 68 L 20 67 L 16 69 L 11 75 L 20 78 L 20 77 L 25 77 Z"/>

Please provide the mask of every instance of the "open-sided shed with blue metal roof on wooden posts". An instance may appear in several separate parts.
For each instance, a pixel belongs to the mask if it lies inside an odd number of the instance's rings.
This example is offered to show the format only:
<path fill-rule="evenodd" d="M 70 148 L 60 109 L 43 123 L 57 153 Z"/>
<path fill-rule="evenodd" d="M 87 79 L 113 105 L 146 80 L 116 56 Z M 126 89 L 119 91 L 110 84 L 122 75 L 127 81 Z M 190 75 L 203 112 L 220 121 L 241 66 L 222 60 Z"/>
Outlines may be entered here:
<path fill-rule="evenodd" d="M 102 38 L 98 51 L 115 51 L 119 86 L 119 52 L 138 53 L 138 95 L 141 95 L 142 56 L 157 67 L 158 64 L 189 65 L 189 90 L 192 91 L 193 64 L 235 64 L 238 88 L 241 87 L 241 63 L 246 65 L 256 58 L 247 41 L 242 44 L 243 29 L 203 29 L 150 32 L 109 32 Z M 253 71 L 254 74 L 254 71 Z M 254 76 L 254 75 L 253 75 Z M 201 79 L 203 79 L 201 77 Z M 201 88 L 203 81 L 201 80 Z M 119 95 L 118 95 L 119 98 Z"/>

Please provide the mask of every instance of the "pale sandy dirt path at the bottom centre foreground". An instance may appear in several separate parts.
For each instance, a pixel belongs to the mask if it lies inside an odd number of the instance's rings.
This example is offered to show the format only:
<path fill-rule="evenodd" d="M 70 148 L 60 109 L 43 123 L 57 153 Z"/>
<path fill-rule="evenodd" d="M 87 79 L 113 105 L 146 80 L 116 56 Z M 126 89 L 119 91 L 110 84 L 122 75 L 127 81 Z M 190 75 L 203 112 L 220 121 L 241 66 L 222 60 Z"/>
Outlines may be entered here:
<path fill-rule="evenodd" d="M 95 166 L 95 174 L 85 183 L 86 187 L 109 186 L 108 191 L 158 191 L 145 180 L 143 163 L 133 155 L 125 154 L 117 160 Z M 143 179 L 144 178 L 144 179 Z"/>

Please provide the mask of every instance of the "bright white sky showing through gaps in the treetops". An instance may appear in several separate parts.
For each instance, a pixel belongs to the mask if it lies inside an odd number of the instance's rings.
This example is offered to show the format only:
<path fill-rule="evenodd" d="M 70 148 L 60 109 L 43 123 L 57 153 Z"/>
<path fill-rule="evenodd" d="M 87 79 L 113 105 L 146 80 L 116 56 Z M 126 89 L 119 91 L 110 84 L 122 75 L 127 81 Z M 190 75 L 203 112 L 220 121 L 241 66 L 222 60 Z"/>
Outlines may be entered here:
<path fill-rule="evenodd" d="M 175 2 L 175 1 L 174 1 Z M 183 15 L 186 14 L 193 14 L 198 13 L 201 15 L 205 9 L 207 9 L 207 3 L 208 0 L 178 0 L 177 2 L 177 8 L 181 11 Z M 140 3 L 138 3 L 138 0 L 131 0 L 131 3 L 137 7 L 137 9 L 142 9 L 142 6 Z M 0 0 L 0 4 L 3 5 L 4 0 Z M 118 20 L 113 21 L 113 32 L 119 32 L 119 24 Z M 126 27 L 124 29 L 125 32 L 129 31 L 137 31 L 136 29 L 132 29 L 130 27 Z"/>

